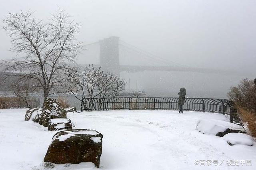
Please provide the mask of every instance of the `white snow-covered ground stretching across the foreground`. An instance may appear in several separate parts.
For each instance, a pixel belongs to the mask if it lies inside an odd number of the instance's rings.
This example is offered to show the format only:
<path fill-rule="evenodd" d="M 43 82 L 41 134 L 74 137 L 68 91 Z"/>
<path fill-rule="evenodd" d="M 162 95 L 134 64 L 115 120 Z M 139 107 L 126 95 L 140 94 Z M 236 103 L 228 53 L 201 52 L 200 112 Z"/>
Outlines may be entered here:
<path fill-rule="evenodd" d="M 25 122 L 26 109 L 0 109 L 0 169 L 41 170 L 52 136 L 48 128 Z M 95 111 L 68 113 L 78 128 L 103 134 L 100 169 L 181 170 L 255 169 L 256 143 L 229 146 L 221 137 L 202 134 L 199 119 L 228 121 L 215 113 L 177 111 Z M 229 165 L 237 161 L 238 165 Z M 206 164 L 211 165 L 206 165 Z M 245 163 L 244 163 L 245 162 Z M 251 165 L 247 165 L 250 164 Z M 217 165 L 216 165 L 217 163 Z M 202 164 L 202 165 L 200 165 Z M 242 165 L 244 164 L 244 165 Z M 94 164 L 57 165 L 53 169 L 94 169 Z M 95 168 L 96 169 L 96 168 Z"/>

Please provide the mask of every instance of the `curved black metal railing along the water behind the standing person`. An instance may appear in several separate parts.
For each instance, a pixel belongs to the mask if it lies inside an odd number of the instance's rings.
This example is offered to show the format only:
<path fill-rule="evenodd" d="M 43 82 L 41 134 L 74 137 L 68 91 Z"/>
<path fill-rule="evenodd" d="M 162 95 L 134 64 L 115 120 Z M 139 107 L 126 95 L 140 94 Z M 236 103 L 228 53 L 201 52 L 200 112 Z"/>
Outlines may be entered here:
<path fill-rule="evenodd" d="M 177 97 L 109 97 L 82 99 L 81 111 L 110 109 L 179 110 Z M 233 115 L 227 99 L 186 98 L 185 111 L 202 111 Z M 232 120 L 231 120 L 232 119 Z M 233 118 L 230 118 L 233 121 Z"/>

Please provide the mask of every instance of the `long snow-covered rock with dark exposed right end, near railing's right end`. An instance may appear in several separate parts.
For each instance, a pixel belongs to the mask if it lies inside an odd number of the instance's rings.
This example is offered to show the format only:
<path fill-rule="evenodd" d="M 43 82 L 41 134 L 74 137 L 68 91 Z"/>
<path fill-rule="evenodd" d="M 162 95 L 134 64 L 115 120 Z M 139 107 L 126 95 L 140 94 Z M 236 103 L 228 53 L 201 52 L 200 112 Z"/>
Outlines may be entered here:
<path fill-rule="evenodd" d="M 196 130 L 204 134 L 214 134 L 220 137 L 231 132 L 244 133 L 244 128 L 240 125 L 215 119 L 200 119 L 196 125 Z"/>

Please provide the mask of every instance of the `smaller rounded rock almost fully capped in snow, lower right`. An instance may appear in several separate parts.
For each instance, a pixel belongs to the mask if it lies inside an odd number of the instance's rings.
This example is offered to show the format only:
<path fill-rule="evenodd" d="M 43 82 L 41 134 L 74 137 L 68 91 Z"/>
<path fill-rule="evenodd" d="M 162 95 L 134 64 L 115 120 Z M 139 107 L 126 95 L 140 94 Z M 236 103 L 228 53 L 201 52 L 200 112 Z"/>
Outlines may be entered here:
<path fill-rule="evenodd" d="M 254 142 L 252 136 L 243 133 L 228 133 L 223 139 L 231 146 L 236 144 L 252 146 Z"/>

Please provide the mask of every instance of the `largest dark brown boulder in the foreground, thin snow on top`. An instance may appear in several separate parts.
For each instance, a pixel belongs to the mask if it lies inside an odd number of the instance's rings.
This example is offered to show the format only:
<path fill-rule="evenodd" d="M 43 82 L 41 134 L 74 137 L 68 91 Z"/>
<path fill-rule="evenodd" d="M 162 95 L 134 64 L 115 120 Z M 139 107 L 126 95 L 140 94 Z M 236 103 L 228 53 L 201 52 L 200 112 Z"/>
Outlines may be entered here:
<path fill-rule="evenodd" d="M 44 162 L 55 164 L 79 164 L 92 162 L 100 167 L 102 153 L 102 134 L 96 130 L 64 130 L 52 138 Z"/>

